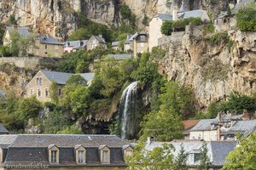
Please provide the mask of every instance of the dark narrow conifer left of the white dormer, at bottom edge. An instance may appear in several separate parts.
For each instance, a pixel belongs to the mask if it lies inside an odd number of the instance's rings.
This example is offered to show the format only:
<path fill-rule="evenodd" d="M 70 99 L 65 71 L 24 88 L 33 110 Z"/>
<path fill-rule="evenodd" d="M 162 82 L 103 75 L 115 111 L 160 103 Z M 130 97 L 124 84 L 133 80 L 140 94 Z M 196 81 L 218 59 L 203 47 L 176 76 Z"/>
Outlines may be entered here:
<path fill-rule="evenodd" d="M 180 145 L 180 150 L 177 157 L 174 159 L 174 169 L 187 170 L 188 154 L 185 153 L 183 144 Z"/>

